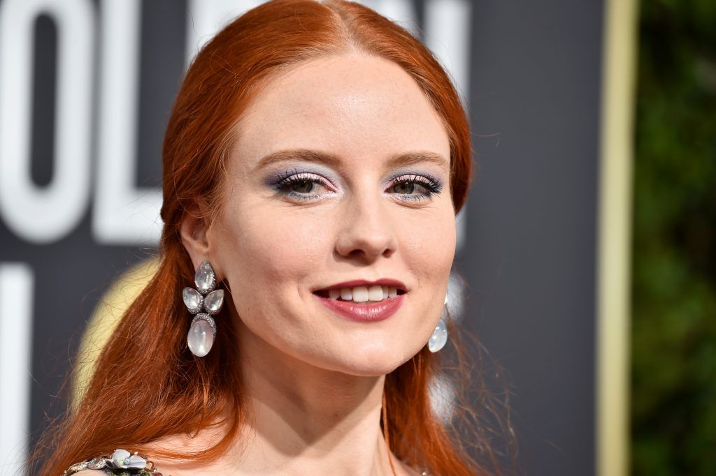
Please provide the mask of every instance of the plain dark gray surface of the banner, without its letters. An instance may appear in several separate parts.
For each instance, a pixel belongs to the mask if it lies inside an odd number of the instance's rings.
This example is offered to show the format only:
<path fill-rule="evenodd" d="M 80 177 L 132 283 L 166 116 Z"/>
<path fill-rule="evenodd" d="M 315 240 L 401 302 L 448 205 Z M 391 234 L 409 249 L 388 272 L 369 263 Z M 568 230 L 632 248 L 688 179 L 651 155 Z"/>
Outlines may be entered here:
<path fill-rule="evenodd" d="M 414 3 L 420 21 L 424 4 Z M 463 322 L 509 372 L 519 458 L 529 475 L 594 474 L 603 6 L 473 3 L 467 100 L 480 170 L 456 269 L 468 282 Z M 160 182 L 163 130 L 184 68 L 186 9 L 183 0 L 142 3 L 137 184 Z M 32 177 L 39 185 L 53 171 L 56 36 L 52 21 L 41 17 L 32 109 Z M 52 407 L 54 395 L 96 300 L 122 269 L 152 251 L 98 244 L 90 217 L 88 210 L 71 234 L 47 245 L 16 237 L 0 221 L 0 263 L 34 270 L 35 436 L 44 413 L 60 410 Z M 5 327 L 9 317 L 2 319 Z"/>

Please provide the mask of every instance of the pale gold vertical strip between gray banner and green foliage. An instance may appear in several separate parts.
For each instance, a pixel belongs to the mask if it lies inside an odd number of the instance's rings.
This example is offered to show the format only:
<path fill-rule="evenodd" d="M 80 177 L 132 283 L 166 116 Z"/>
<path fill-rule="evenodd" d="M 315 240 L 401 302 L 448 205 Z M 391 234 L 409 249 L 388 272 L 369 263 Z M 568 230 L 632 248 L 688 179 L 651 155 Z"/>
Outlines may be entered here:
<path fill-rule="evenodd" d="M 596 279 L 596 475 L 629 472 L 637 0 L 605 0 Z"/>

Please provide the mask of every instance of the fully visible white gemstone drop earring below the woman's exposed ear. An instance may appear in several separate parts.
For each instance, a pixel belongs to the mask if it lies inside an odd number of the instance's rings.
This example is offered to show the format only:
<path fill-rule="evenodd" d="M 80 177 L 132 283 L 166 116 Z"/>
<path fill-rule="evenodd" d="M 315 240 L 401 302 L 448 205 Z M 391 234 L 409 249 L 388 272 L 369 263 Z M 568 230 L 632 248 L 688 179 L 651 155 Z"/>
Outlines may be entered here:
<path fill-rule="evenodd" d="M 191 321 L 186 342 L 189 350 L 197 357 L 204 357 L 211 350 L 216 339 L 216 322 L 211 317 L 218 314 L 223 306 L 223 289 L 216 289 L 216 273 L 208 261 L 199 264 L 194 274 L 196 289 L 185 287 L 182 299 L 190 314 L 195 314 Z M 202 311 L 203 312 L 200 312 Z"/>

